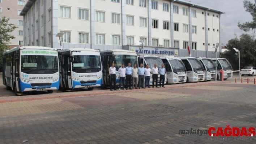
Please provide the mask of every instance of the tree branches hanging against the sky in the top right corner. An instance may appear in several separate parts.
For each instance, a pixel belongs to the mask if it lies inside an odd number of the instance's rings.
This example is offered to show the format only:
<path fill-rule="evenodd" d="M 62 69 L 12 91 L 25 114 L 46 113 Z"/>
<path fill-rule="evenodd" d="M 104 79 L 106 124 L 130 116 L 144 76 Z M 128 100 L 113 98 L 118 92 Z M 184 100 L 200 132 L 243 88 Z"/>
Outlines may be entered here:
<path fill-rule="evenodd" d="M 246 23 L 238 23 L 238 27 L 245 31 L 248 32 L 249 30 L 255 30 L 256 29 L 256 0 L 254 0 L 255 4 L 253 4 L 249 0 L 244 0 L 243 5 L 244 8 L 246 9 L 246 12 L 249 12 L 252 15 L 252 22 L 246 22 Z"/>

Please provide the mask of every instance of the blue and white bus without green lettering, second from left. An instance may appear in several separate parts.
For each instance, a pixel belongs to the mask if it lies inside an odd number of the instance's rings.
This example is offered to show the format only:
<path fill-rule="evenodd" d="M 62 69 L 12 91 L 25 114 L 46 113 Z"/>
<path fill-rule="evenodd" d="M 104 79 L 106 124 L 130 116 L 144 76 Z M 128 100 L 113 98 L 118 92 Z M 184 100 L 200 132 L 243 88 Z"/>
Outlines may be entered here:
<path fill-rule="evenodd" d="M 60 88 L 63 92 L 78 88 L 93 90 L 102 84 L 99 50 L 69 48 L 59 50 Z"/>

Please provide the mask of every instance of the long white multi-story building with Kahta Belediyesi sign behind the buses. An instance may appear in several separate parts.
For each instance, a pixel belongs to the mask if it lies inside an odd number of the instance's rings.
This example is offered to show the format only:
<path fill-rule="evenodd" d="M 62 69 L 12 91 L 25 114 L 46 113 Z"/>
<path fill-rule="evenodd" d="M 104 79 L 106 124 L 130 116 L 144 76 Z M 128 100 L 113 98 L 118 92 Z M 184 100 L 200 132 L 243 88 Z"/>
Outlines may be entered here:
<path fill-rule="evenodd" d="M 223 12 L 184 0 L 28 0 L 25 45 L 213 56 Z M 219 52 L 219 49 L 218 49 Z"/>

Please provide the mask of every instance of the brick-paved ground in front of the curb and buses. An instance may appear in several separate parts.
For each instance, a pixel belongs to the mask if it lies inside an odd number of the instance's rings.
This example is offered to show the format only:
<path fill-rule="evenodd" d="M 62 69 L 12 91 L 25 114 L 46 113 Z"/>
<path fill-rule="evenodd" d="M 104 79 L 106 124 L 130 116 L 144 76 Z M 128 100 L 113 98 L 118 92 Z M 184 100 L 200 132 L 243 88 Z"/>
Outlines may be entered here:
<path fill-rule="evenodd" d="M 255 127 L 254 84 L 0 103 L 0 144 L 255 143 L 179 130 Z"/>

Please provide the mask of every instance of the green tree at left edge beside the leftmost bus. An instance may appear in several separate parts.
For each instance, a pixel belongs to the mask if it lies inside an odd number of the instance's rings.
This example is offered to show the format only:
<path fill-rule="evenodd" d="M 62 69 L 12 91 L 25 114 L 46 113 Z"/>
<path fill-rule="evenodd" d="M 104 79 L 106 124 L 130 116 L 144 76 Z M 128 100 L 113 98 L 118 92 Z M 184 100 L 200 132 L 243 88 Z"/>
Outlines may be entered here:
<path fill-rule="evenodd" d="M 3 52 L 8 49 L 8 44 L 10 44 L 10 39 L 15 39 L 10 33 L 13 32 L 17 26 L 9 23 L 9 19 L 2 17 L 0 21 L 0 70 L 3 66 Z"/>

